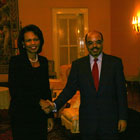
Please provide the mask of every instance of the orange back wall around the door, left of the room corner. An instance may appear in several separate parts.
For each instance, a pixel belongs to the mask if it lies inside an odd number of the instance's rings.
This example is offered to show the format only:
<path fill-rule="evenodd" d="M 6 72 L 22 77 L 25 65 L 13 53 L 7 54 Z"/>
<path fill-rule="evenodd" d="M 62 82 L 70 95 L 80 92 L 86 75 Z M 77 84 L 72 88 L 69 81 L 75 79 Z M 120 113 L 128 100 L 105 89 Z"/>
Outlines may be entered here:
<path fill-rule="evenodd" d="M 19 18 L 22 26 L 36 24 L 43 31 L 45 44 L 42 55 L 53 59 L 52 8 L 88 8 L 89 30 L 104 34 L 104 50 L 110 50 L 110 0 L 19 0 Z"/>

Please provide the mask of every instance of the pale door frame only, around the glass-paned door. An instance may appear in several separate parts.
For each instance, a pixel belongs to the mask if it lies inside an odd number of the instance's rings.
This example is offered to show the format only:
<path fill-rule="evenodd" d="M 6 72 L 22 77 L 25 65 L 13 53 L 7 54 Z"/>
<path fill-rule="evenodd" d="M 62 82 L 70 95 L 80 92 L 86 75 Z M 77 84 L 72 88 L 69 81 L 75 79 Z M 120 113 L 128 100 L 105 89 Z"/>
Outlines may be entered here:
<path fill-rule="evenodd" d="M 52 23 L 53 23 L 53 60 L 55 62 L 55 72 L 57 78 L 60 76 L 59 49 L 57 42 L 57 15 L 58 14 L 83 14 L 84 15 L 84 35 L 88 32 L 88 9 L 87 8 L 53 8 Z M 86 51 L 85 51 L 86 52 Z"/>

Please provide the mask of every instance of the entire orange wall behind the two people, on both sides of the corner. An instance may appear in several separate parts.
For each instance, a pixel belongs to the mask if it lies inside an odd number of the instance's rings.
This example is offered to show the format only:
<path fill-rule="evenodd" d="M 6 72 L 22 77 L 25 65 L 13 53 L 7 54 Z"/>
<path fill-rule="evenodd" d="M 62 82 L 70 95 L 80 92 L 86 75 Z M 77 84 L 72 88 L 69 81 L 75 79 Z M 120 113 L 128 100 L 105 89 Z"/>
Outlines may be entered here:
<path fill-rule="evenodd" d="M 53 59 L 52 8 L 63 7 L 88 8 L 89 30 L 103 33 L 104 51 L 122 58 L 127 78 L 140 80 L 140 34 L 131 24 L 140 0 L 19 0 L 20 21 L 23 26 L 33 23 L 41 28 L 45 38 L 42 55 L 48 59 Z"/>

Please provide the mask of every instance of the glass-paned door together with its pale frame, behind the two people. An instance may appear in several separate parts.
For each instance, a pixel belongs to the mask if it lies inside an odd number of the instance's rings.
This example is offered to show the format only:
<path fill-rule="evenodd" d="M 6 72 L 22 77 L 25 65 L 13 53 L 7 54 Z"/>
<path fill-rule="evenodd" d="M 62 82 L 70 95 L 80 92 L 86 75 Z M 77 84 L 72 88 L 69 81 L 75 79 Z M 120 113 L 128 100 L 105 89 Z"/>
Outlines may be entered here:
<path fill-rule="evenodd" d="M 87 8 L 53 9 L 53 59 L 59 78 L 61 65 L 71 64 L 85 56 L 85 34 L 88 31 Z"/>

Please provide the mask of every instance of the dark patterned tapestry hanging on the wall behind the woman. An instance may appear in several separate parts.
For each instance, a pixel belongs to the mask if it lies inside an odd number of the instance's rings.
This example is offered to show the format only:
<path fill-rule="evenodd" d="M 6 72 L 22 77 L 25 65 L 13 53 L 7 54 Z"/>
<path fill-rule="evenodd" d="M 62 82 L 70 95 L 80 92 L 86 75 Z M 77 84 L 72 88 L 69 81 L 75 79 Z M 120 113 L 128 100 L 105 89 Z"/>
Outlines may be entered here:
<path fill-rule="evenodd" d="M 10 57 L 17 54 L 18 0 L 0 0 L 0 74 L 8 74 Z"/>

